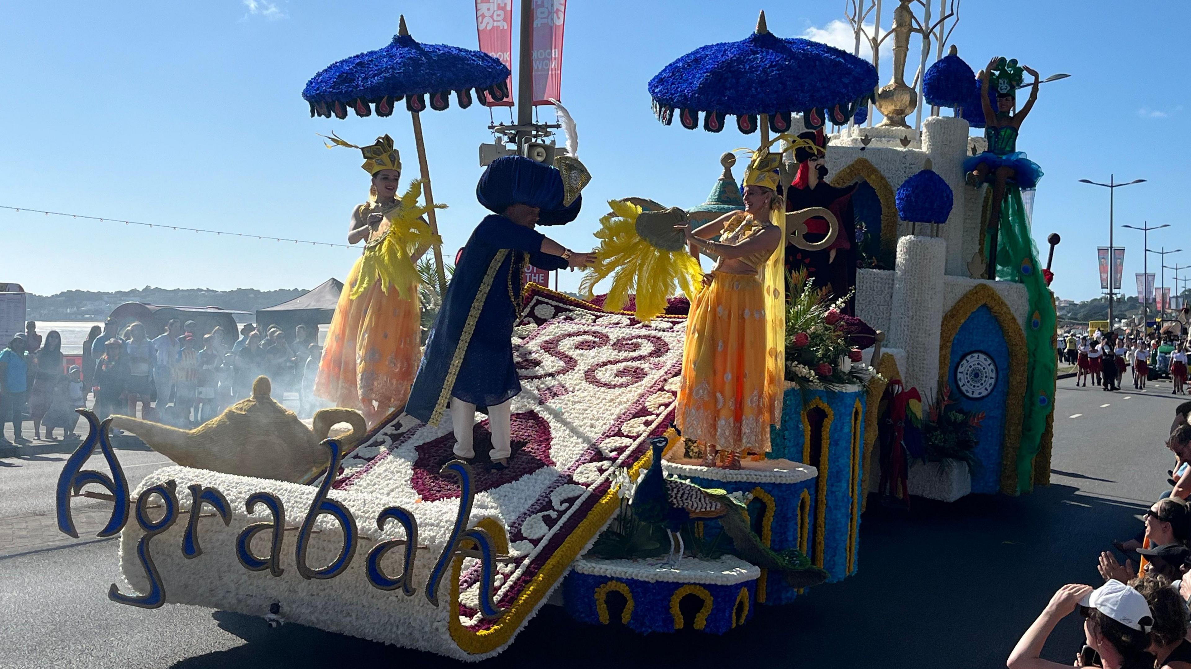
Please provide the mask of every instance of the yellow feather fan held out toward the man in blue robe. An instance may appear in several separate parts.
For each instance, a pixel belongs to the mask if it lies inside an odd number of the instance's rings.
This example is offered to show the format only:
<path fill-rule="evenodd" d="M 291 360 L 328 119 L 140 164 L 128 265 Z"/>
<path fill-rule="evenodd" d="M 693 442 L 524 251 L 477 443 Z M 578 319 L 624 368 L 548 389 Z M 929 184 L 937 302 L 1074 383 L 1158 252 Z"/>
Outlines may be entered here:
<path fill-rule="evenodd" d="M 666 311 L 666 300 L 678 290 L 694 299 L 703 286 L 699 261 L 681 245 L 668 250 L 650 244 L 637 232 L 637 217 L 642 208 L 629 200 L 610 200 L 612 212 L 600 219 L 596 237 L 596 264 L 579 283 L 579 292 L 588 299 L 597 283 L 612 277 L 604 308 L 621 311 L 629 295 L 637 296 L 636 317 L 650 321 Z M 676 211 L 676 210 L 675 210 Z M 678 212 L 681 214 L 681 212 Z"/>

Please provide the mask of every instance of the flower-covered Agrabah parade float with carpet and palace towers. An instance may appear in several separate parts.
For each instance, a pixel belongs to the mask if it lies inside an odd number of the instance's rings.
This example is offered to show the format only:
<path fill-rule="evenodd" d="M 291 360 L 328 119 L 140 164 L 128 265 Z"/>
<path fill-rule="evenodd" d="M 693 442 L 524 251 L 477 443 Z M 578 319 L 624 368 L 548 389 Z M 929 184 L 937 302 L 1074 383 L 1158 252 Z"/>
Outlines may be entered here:
<path fill-rule="evenodd" d="M 893 81 L 883 88 L 868 62 L 779 38 L 763 14 L 748 38 L 697 49 L 649 85 L 666 125 L 756 133 L 754 177 L 772 167 L 786 195 L 785 386 L 768 452 L 709 467 L 675 425 L 688 324 L 673 298 L 694 298 L 699 268 L 673 231 L 744 207 L 728 155 L 700 205 L 609 204 L 584 287 L 611 280 L 603 299 L 535 285 L 510 294 L 520 393 L 499 467 L 488 455 L 494 412 L 474 421 L 475 457 L 464 462 L 459 426 L 441 415 L 394 412 L 364 432 L 360 414 L 336 409 L 311 431 L 258 380 L 251 399 L 193 432 L 85 413 L 91 432 L 58 481 L 60 529 L 79 536 L 73 496 L 113 500 L 99 536 L 120 537 L 126 582 L 108 593 L 120 604 L 207 606 L 478 661 L 504 651 L 548 601 L 582 623 L 723 633 L 759 605 L 854 574 L 869 492 L 950 501 L 1046 483 L 1054 375 L 1047 382 L 1039 342 L 1049 345 L 1054 310 L 1028 205 L 1016 181 L 965 185 L 978 171 L 966 158 L 987 148 L 966 117 L 989 106 L 989 86 L 958 55 L 939 58 L 923 87 L 955 115 L 905 124 L 917 101 L 906 44 L 916 21 L 930 23 L 908 12 L 902 2 L 894 14 Z M 443 110 L 451 90 L 461 107 L 472 90 L 481 104 L 509 94 L 495 58 L 418 44 L 401 26 L 389 46 L 317 75 L 311 113 L 384 117 L 404 101 L 420 151 L 426 95 Z M 406 58 L 417 67 L 403 70 Z M 1019 83 L 1016 63 L 991 65 L 996 90 Z M 399 71 L 419 76 L 386 79 Z M 866 126 L 872 105 L 884 120 Z M 569 206 L 585 181 L 561 174 Z M 1008 206 L 991 207 L 994 187 Z M 437 248 L 436 261 L 442 281 Z M 351 433 L 336 436 L 332 421 Z M 116 424 L 168 444 L 177 465 L 130 489 L 108 439 Z M 281 430 L 293 449 L 268 439 Z M 285 474 L 237 459 L 247 436 L 267 442 Z M 96 449 L 111 475 L 85 468 Z"/>

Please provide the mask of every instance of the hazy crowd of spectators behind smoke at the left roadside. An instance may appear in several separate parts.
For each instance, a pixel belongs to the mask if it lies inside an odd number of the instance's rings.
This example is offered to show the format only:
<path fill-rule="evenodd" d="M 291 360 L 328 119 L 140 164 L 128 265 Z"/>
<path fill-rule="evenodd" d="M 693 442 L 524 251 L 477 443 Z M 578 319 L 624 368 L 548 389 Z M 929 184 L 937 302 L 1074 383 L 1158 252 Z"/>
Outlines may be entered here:
<path fill-rule="evenodd" d="M 13 442 L 29 443 L 21 433 L 26 415 L 36 439 L 43 430 L 52 439 L 60 429 L 63 439 L 76 438 L 75 409 L 89 398 L 100 419 L 139 411 L 148 420 L 191 427 L 247 398 L 260 375 L 272 381 L 275 399 L 298 393 L 303 417 L 323 406 L 311 392 L 322 358 L 316 327 L 298 325 L 291 340 L 279 327 L 261 333 L 248 324 L 232 340 L 223 327 L 201 332 L 193 320 L 170 320 L 152 339 L 142 323 L 119 332 L 117 326 L 112 319 L 92 326 L 82 364 L 69 368 L 61 334 L 50 331 L 43 342 L 33 321 L 0 349 L 0 445 L 8 424 Z"/>

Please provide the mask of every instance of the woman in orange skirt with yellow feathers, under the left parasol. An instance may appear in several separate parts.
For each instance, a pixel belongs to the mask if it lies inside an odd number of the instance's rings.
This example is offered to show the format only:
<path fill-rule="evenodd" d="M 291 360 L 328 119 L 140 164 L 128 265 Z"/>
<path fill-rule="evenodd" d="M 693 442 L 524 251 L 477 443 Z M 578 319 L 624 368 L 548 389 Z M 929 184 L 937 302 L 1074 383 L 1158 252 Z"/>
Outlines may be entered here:
<path fill-rule="evenodd" d="M 414 263 L 436 240 L 418 218 L 422 186 L 397 196 L 400 155 L 389 136 L 356 146 L 372 175 L 370 198 L 351 212 L 348 243 L 366 240 L 351 267 L 326 333 L 314 394 L 336 406 L 362 409 L 369 426 L 405 406 L 422 358 L 422 319 Z M 330 146 L 330 145 L 329 145 Z"/>

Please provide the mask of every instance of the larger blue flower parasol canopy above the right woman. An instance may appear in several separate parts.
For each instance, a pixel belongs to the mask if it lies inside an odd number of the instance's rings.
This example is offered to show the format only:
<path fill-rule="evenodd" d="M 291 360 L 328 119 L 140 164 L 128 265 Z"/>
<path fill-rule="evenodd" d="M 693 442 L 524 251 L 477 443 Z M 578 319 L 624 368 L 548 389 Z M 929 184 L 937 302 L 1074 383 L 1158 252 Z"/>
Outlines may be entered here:
<path fill-rule="evenodd" d="M 703 129 L 719 132 L 734 114 L 744 133 L 756 131 L 760 114 L 768 114 L 774 132 L 788 131 L 793 113 L 803 114 L 807 130 L 825 120 L 843 125 L 875 88 L 871 63 L 818 42 L 777 37 L 766 29 L 765 12 L 746 39 L 700 46 L 649 81 L 663 124 L 678 113 L 682 127 L 694 130 L 703 112 Z"/>

